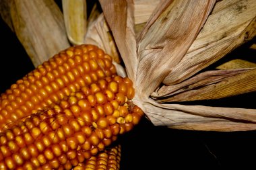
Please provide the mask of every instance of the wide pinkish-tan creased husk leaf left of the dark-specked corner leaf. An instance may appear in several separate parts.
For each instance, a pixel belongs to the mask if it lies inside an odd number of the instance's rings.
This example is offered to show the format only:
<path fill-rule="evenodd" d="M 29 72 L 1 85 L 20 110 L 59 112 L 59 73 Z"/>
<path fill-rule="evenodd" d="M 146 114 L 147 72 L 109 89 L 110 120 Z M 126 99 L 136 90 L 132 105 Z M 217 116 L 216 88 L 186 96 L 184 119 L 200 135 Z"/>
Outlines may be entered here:
<path fill-rule="evenodd" d="M 166 1 L 167 6 L 160 4 L 156 15 L 163 10 L 161 15 L 157 19 L 152 17 L 154 23 L 148 22 L 138 39 L 135 84 L 139 93 L 149 96 L 172 72 L 195 40 L 214 3 L 172 1 L 169 5 Z"/>

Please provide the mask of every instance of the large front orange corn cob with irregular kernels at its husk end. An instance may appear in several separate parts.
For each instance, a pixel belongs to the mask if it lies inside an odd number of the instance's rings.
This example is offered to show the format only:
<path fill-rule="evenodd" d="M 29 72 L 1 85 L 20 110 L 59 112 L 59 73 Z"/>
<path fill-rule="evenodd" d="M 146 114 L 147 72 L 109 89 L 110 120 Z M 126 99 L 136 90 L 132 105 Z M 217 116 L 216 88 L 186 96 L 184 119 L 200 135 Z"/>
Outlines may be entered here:
<path fill-rule="evenodd" d="M 117 75 L 84 85 L 0 134 L 0 169 L 71 169 L 139 122 L 131 80 Z"/>

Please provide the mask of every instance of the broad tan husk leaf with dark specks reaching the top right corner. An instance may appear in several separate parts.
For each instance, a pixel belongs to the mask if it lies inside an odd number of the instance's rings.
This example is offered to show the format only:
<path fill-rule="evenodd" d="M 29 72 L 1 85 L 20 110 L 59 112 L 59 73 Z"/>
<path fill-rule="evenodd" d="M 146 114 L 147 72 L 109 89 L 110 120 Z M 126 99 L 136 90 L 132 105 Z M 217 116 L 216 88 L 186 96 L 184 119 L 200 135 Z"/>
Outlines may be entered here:
<path fill-rule="evenodd" d="M 219 7 L 224 3 L 226 7 Z M 228 52 L 251 40 L 255 34 L 256 1 L 220 1 L 187 54 L 164 79 L 164 84 L 179 83 L 216 62 Z"/>

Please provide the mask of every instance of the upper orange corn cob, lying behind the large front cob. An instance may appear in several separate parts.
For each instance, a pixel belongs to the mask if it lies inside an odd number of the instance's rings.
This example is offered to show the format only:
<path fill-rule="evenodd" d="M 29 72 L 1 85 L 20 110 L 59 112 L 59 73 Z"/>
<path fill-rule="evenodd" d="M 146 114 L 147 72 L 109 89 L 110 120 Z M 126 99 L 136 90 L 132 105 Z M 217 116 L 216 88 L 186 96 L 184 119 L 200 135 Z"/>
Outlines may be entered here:
<path fill-rule="evenodd" d="M 97 46 L 83 44 L 59 52 L 1 94 L 0 132 L 84 85 L 115 74 L 112 58 Z"/>

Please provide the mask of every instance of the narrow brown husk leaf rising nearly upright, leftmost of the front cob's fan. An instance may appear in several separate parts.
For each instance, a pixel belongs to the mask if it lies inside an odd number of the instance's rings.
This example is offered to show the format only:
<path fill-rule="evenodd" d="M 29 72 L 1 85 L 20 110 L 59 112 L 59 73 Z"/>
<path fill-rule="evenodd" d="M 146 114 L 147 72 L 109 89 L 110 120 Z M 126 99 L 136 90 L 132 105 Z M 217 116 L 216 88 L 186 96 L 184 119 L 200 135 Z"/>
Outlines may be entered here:
<path fill-rule="evenodd" d="M 134 32 L 133 1 L 104 1 L 100 0 L 104 16 L 113 33 L 118 50 L 125 63 L 128 77 L 135 82 L 137 68 L 136 40 Z M 119 17 L 117 19 L 117 17 Z"/>

